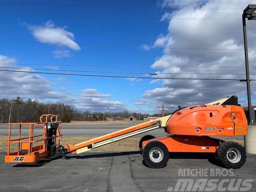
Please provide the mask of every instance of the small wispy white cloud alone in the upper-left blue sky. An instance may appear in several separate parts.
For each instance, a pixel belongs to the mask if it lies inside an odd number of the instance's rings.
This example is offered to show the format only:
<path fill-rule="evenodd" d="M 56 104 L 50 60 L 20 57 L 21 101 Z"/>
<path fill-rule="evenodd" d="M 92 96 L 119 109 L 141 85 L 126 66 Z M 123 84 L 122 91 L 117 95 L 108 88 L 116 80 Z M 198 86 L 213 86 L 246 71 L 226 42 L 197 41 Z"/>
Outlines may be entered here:
<path fill-rule="evenodd" d="M 47 21 L 46 24 L 42 26 L 29 24 L 27 24 L 27 26 L 39 42 L 66 44 L 61 46 L 67 46 L 75 51 L 81 49 L 74 41 L 75 35 L 67 31 L 67 27 L 57 27 L 51 20 Z"/>

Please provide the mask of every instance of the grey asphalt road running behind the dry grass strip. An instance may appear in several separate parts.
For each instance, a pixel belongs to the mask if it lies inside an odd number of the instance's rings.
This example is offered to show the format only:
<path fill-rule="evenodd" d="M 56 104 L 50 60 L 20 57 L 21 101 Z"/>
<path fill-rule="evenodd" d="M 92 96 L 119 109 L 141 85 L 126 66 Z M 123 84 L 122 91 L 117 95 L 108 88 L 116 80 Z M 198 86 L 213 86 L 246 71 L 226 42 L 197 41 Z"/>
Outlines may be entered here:
<path fill-rule="evenodd" d="M 104 134 L 108 134 L 111 132 L 118 131 L 120 129 L 124 129 L 127 127 L 130 127 L 133 125 L 111 125 L 111 124 L 105 124 L 105 125 L 82 125 L 82 124 L 62 124 L 61 125 L 61 134 L 63 136 L 102 136 Z M 8 135 L 8 124 L 0 124 L 0 135 Z M 28 135 L 28 127 L 22 128 L 21 135 Z M 18 135 L 18 126 L 12 125 L 12 135 Z M 35 128 L 34 129 L 34 135 L 40 135 L 42 134 L 41 128 Z M 153 135 L 155 137 L 161 137 L 165 136 L 166 133 L 164 132 L 163 128 L 158 128 L 149 132 L 145 132 L 139 135 L 135 135 L 134 137 L 143 137 L 144 135 Z M 243 140 L 243 136 L 237 136 L 237 137 L 217 137 L 220 139 L 241 139 Z"/>

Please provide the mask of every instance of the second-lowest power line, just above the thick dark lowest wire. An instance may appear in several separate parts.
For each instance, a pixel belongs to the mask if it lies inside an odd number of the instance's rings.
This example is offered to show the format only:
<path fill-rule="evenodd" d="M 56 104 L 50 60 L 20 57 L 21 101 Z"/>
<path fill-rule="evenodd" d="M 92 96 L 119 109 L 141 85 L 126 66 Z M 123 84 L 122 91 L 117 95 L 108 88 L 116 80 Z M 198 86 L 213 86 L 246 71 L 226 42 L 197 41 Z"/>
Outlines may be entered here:
<path fill-rule="evenodd" d="M 18 67 L 0 67 L 8 69 L 27 69 Z M 88 73 L 120 73 L 120 74 L 148 74 L 148 75 L 246 75 L 245 73 L 152 73 L 152 72 L 115 72 L 115 71 L 84 71 L 84 70 L 66 70 L 66 69 L 38 69 L 29 68 L 33 70 L 44 70 L 44 71 L 68 71 L 68 72 L 88 72 Z M 250 75 L 256 75 L 251 73 Z"/>

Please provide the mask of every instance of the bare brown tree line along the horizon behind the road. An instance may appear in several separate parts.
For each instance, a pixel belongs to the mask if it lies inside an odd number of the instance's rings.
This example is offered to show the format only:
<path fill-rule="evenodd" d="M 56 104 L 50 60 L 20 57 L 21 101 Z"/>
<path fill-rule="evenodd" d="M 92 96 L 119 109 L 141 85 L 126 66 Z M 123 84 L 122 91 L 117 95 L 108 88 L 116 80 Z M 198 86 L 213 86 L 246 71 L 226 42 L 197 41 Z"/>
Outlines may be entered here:
<path fill-rule="evenodd" d="M 104 114 L 100 111 L 79 111 L 75 106 L 60 101 L 39 101 L 31 98 L 24 100 L 17 96 L 12 100 L 0 99 L 0 123 L 8 123 L 9 117 L 11 123 L 38 122 L 41 115 L 48 114 L 48 110 L 49 114 L 59 115 L 60 119 L 68 119 L 67 121 L 102 121 L 103 118 L 107 120 L 107 117 L 115 120 L 127 120 L 131 115 L 137 120 L 139 118 L 143 120 L 144 116 L 150 116 L 148 113 L 139 114 L 128 110 L 104 112 Z M 165 113 L 165 115 L 168 114 L 170 113 Z M 162 116 L 162 114 L 151 116 Z"/>

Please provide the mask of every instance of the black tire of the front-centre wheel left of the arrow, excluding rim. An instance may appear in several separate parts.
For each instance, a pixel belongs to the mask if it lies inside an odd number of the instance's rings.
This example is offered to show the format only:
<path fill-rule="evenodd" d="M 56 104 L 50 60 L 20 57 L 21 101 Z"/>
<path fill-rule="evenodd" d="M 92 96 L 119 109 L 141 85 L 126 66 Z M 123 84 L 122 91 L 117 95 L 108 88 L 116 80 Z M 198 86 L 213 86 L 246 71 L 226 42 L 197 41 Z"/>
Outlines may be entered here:
<path fill-rule="evenodd" d="M 164 157 L 162 159 L 162 161 L 155 163 L 153 162 L 150 157 L 149 157 L 149 152 L 152 148 L 160 148 L 163 151 Z M 163 168 L 167 165 L 167 162 L 169 161 L 169 151 L 167 149 L 167 147 L 159 142 L 159 141 L 151 141 L 149 142 L 143 149 L 142 151 L 142 156 L 143 156 L 143 160 L 144 162 L 151 168 L 153 169 L 159 169 L 159 168 Z"/>

